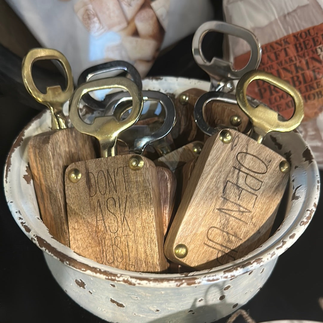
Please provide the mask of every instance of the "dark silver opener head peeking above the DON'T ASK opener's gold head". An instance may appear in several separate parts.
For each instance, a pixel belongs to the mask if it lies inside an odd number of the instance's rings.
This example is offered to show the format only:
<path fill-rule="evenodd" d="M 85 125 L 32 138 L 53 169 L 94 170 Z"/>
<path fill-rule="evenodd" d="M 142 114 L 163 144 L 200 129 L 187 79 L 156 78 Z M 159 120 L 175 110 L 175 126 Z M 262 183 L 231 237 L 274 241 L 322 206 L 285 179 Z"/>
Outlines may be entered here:
<path fill-rule="evenodd" d="M 123 60 L 107 62 L 107 63 L 103 63 L 103 64 L 99 64 L 99 65 L 95 65 L 90 68 L 87 68 L 81 73 L 77 81 L 77 85 L 80 86 L 81 84 L 88 82 L 93 77 L 97 77 L 100 74 L 109 73 L 113 71 L 127 72 L 130 75 L 131 79 L 137 85 L 138 89 L 139 90 L 142 89 L 142 82 L 141 82 L 141 77 L 139 72 L 136 70 L 136 68 L 133 65 Z M 105 107 L 106 107 L 105 100 L 98 101 L 92 98 L 92 96 L 88 93 L 85 94 L 82 99 L 86 105 L 88 105 L 94 110 L 101 110 L 101 111 L 105 110 Z"/>

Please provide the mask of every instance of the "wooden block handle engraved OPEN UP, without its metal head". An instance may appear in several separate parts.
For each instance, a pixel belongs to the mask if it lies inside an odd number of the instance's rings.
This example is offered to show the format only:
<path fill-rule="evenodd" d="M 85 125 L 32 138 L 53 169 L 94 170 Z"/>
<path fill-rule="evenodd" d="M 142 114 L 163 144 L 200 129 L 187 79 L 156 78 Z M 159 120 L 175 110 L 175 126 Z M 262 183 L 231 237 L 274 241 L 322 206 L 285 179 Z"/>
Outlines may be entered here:
<path fill-rule="evenodd" d="M 166 238 L 169 260 L 206 269 L 238 259 L 267 239 L 288 174 L 284 160 L 255 140 L 230 130 L 211 136 L 198 158 Z M 187 255 L 174 255 L 178 244 Z"/>

